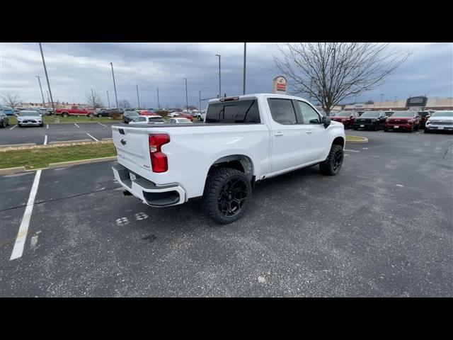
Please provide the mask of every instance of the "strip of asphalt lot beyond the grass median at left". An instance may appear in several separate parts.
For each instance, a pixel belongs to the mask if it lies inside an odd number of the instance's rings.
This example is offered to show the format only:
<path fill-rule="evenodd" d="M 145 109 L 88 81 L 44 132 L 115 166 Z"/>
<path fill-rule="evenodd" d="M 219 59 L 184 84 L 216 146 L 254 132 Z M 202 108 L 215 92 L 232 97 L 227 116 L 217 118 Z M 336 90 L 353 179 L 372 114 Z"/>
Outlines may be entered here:
<path fill-rule="evenodd" d="M 70 140 L 102 140 L 112 137 L 113 124 L 121 123 L 45 124 L 42 128 L 36 126 L 19 128 L 17 125 L 11 125 L 0 130 L 0 145 L 27 143 L 43 145 Z"/>

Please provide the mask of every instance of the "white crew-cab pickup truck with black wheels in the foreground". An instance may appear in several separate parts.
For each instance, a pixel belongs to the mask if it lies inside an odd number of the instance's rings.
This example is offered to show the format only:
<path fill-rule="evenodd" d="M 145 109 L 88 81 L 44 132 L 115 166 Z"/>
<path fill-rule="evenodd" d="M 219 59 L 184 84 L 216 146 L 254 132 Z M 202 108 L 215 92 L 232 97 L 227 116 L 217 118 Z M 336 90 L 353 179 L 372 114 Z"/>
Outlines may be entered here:
<path fill-rule="evenodd" d="M 343 124 L 294 96 L 212 99 L 204 123 L 112 129 L 125 195 L 152 207 L 202 198 L 221 224 L 243 215 L 258 181 L 313 164 L 332 176 L 343 164 Z"/>

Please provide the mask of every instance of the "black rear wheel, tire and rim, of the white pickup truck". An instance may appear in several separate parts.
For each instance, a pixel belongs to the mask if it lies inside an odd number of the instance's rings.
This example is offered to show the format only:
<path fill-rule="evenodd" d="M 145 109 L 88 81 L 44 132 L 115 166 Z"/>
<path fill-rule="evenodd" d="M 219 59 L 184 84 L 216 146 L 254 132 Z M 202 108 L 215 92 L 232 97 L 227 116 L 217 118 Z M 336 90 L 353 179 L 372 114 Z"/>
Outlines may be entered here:
<path fill-rule="evenodd" d="M 205 214 L 221 225 L 239 220 L 251 197 L 251 183 L 242 171 L 220 168 L 207 178 Z"/>

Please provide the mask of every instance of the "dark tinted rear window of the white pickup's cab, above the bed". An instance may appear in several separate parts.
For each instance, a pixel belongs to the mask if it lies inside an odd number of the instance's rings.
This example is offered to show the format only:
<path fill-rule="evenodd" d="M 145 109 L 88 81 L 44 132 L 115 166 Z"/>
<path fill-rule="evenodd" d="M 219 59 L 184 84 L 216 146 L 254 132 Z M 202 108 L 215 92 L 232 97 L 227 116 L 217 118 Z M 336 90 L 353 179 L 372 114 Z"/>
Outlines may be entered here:
<path fill-rule="evenodd" d="M 214 103 L 207 107 L 206 123 L 260 123 L 256 99 Z"/>

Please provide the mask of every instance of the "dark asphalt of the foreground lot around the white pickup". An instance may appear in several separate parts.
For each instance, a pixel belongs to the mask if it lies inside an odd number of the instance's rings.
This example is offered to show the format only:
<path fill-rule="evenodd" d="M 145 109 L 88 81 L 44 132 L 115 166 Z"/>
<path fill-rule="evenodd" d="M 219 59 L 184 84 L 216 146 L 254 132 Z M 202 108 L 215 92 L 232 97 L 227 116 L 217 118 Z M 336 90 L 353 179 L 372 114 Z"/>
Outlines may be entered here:
<path fill-rule="evenodd" d="M 347 134 L 338 176 L 265 180 L 224 226 L 123 196 L 113 163 L 43 170 L 11 261 L 35 171 L 3 176 L 0 295 L 453 296 L 453 136 Z"/>

